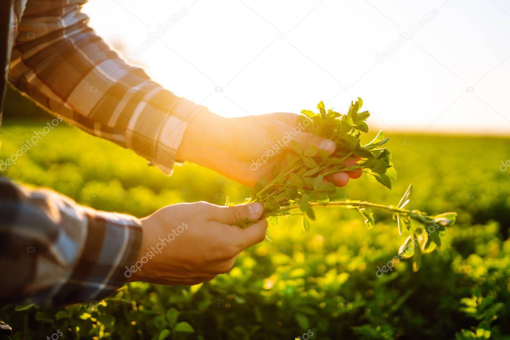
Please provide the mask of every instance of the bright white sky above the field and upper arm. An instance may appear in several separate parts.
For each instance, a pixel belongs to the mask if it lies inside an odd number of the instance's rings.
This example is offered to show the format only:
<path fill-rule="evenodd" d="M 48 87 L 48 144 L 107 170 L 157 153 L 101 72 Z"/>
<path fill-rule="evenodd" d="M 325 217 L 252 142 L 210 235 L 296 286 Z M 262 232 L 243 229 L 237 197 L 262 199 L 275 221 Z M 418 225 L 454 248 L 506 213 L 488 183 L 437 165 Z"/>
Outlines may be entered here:
<path fill-rule="evenodd" d="M 84 11 L 154 80 L 223 116 L 320 100 L 344 112 L 360 96 L 389 133 L 510 133 L 503 0 L 90 0 Z"/>

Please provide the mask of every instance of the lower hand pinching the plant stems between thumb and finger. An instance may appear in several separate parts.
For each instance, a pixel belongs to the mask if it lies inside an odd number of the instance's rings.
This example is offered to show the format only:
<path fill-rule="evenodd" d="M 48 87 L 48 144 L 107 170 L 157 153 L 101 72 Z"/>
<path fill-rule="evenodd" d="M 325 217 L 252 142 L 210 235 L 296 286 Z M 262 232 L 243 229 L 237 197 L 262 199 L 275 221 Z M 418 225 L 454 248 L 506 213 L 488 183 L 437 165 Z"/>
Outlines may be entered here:
<path fill-rule="evenodd" d="M 131 281 L 197 284 L 230 271 L 237 255 L 264 240 L 267 222 L 260 203 L 218 206 L 207 202 L 166 206 L 142 219 L 137 262 L 124 275 Z M 233 225 L 248 219 L 246 228 Z"/>

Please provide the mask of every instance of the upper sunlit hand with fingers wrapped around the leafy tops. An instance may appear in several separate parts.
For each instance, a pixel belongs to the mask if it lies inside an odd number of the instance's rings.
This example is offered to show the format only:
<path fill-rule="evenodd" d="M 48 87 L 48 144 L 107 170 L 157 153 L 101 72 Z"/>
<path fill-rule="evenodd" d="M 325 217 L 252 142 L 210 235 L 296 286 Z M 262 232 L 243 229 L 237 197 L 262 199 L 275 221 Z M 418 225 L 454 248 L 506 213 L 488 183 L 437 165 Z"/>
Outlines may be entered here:
<path fill-rule="evenodd" d="M 262 177 L 270 177 L 275 165 L 286 162 L 291 140 L 303 149 L 315 145 L 329 154 L 333 141 L 305 133 L 292 113 L 273 113 L 256 117 L 222 118 L 210 112 L 197 116 L 188 127 L 179 152 L 183 159 L 206 166 L 244 185 L 253 186 Z M 347 167 L 354 166 L 346 160 Z M 326 180 L 342 187 L 361 172 L 337 172 Z"/>

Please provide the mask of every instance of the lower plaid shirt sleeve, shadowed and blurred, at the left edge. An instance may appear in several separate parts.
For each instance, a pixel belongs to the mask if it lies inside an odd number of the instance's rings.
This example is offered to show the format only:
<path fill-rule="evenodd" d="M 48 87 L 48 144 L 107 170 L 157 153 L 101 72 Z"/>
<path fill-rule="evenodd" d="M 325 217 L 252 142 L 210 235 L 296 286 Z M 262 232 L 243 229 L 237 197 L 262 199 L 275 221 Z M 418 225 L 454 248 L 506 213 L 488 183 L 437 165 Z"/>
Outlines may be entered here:
<path fill-rule="evenodd" d="M 138 256 L 134 217 L 79 206 L 0 177 L 0 302 L 64 305 L 117 290 Z"/>

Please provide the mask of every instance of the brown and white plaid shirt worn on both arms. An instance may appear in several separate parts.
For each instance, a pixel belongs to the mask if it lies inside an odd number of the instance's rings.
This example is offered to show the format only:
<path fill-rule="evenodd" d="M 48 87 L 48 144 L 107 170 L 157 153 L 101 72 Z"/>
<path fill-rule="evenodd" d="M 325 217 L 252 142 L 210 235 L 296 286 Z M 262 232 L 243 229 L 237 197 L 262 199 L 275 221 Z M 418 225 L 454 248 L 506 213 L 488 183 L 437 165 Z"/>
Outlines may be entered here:
<path fill-rule="evenodd" d="M 86 0 L 0 1 L 13 1 L 10 16 L 0 14 L 10 20 L 9 32 L 0 32 L 8 46 L 12 42 L 9 82 L 50 113 L 171 173 L 188 122 L 207 109 L 124 63 L 88 27 L 81 12 Z M 4 49 L 0 45 L 9 54 Z M 99 300 L 124 283 L 123 268 L 134 262 L 140 243 L 140 222 L 133 217 L 0 181 L 4 301 Z"/>

